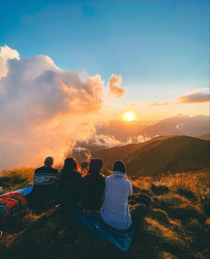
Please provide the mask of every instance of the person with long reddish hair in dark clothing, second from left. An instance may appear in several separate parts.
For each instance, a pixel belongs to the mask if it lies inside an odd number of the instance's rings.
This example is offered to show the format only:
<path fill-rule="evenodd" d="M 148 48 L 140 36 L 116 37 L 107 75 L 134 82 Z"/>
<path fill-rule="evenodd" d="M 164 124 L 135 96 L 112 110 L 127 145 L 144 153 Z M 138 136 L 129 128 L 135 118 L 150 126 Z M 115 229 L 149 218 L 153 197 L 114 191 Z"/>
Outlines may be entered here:
<path fill-rule="evenodd" d="M 74 157 L 64 160 L 58 181 L 58 201 L 63 211 L 74 214 L 79 209 L 80 185 L 82 173 Z"/>

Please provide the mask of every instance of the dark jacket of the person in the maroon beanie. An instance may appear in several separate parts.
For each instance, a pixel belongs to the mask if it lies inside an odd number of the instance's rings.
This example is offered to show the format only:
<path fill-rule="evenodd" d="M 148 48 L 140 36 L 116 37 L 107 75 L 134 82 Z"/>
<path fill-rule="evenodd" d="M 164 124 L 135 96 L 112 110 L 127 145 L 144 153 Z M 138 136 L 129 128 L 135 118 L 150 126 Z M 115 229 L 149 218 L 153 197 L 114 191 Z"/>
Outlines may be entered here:
<path fill-rule="evenodd" d="M 105 176 L 103 174 L 88 174 L 82 179 L 80 192 L 81 204 L 86 211 L 98 211 L 104 203 L 103 192 Z"/>

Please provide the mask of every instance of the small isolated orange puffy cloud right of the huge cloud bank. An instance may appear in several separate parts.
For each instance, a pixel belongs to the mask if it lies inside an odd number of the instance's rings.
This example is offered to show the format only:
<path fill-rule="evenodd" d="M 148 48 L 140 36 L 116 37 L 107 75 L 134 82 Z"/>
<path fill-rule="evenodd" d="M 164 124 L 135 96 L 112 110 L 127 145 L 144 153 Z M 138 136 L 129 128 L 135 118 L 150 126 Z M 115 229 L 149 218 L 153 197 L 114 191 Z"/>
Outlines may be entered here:
<path fill-rule="evenodd" d="M 112 74 L 108 81 L 108 95 L 114 95 L 116 98 L 124 97 L 126 94 L 125 88 L 120 88 L 118 85 L 121 85 L 122 77 Z"/>

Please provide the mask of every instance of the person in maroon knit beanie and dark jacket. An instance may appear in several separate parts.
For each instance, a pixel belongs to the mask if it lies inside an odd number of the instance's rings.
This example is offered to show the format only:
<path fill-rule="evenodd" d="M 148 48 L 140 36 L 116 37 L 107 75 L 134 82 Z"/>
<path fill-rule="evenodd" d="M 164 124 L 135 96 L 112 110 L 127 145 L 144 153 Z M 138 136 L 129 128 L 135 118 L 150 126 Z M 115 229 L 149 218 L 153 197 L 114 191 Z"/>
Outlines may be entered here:
<path fill-rule="evenodd" d="M 101 174 L 103 161 L 92 158 L 89 163 L 88 174 L 82 179 L 81 205 L 84 213 L 99 213 L 104 203 L 103 192 L 105 176 Z"/>

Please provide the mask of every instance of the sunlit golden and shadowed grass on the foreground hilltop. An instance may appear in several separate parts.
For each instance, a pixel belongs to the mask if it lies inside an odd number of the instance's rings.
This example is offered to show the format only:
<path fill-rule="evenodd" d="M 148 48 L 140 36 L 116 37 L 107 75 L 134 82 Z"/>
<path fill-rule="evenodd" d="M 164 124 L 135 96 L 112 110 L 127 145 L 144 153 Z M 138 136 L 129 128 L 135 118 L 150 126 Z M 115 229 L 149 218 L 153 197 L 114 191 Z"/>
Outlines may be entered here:
<path fill-rule="evenodd" d="M 28 186 L 33 171 L 26 167 L 3 171 L 0 185 L 5 191 Z M 110 171 L 104 169 L 104 174 Z M 51 208 L 41 215 L 30 212 L 7 221 L 1 227 L 1 258 L 209 258 L 208 173 L 161 174 L 131 181 L 134 192 L 148 193 L 152 203 L 126 253 Z"/>

